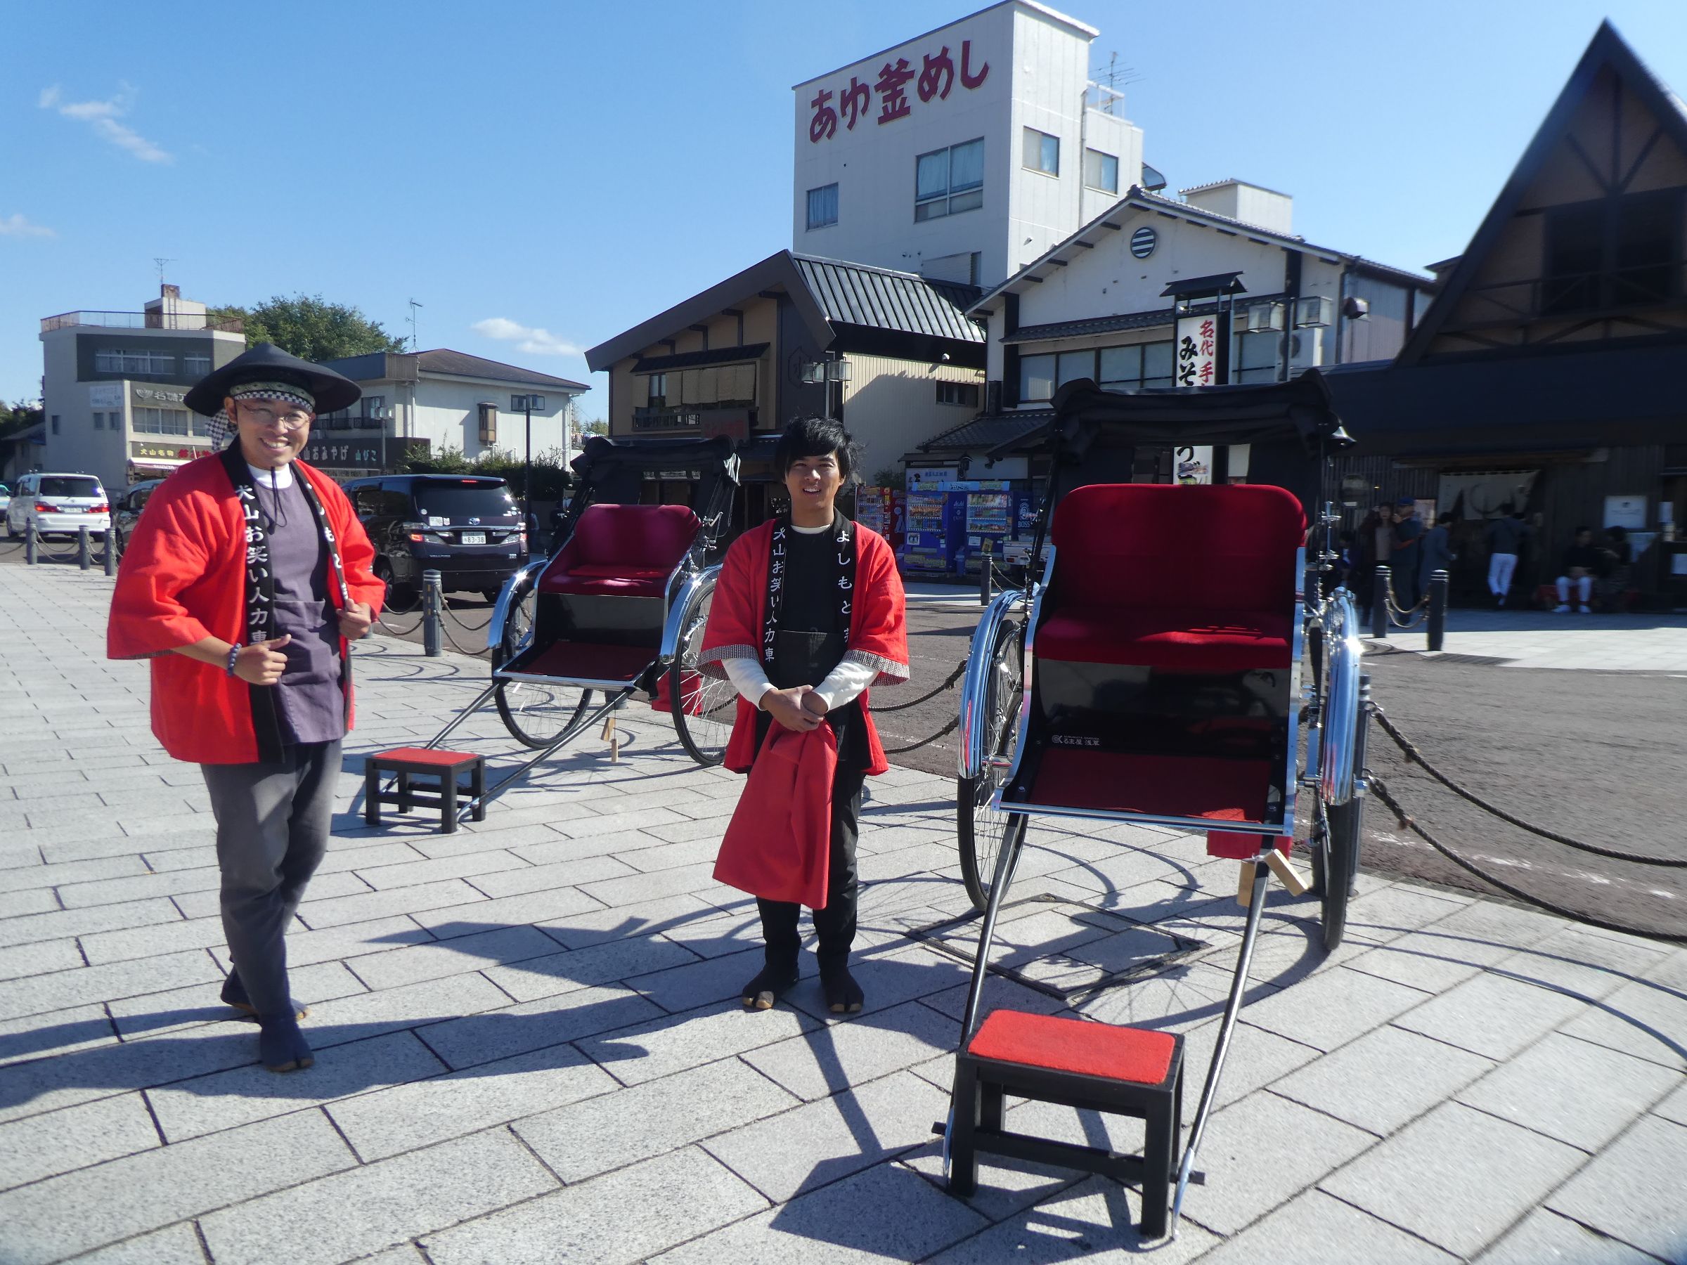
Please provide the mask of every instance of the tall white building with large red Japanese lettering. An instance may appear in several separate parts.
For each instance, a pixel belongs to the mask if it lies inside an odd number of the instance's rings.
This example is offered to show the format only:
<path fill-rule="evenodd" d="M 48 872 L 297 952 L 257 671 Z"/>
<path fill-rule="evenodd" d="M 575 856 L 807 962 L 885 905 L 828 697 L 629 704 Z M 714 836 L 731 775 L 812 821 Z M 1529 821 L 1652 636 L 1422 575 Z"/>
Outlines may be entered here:
<path fill-rule="evenodd" d="M 1157 187 L 1097 34 L 1004 0 L 796 84 L 793 250 L 989 288 Z"/>

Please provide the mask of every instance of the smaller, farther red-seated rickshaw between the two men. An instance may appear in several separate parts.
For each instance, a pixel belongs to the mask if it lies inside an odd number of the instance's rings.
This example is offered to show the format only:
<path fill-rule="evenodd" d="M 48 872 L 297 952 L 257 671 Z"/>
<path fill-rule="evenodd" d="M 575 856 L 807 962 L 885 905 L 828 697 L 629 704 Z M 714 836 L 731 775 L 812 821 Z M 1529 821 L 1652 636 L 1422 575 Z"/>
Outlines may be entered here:
<path fill-rule="evenodd" d="M 574 499 L 548 558 L 518 570 L 498 594 L 486 646 L 491 681 L 422 751 L 491 700 L 504 727 L 535 754 L 461 803 L 486 803 L 639 695 L 668 712 L 698 764 L 720 764 L 737 698 L 730 681 L 697 671 L 719 563 L 710 558 L 737 489 L 729 437 L 609 440 L 592 437 L 572 467 Z M 687 479 L 692 506 L 648 504 L 649 486 Z"/>

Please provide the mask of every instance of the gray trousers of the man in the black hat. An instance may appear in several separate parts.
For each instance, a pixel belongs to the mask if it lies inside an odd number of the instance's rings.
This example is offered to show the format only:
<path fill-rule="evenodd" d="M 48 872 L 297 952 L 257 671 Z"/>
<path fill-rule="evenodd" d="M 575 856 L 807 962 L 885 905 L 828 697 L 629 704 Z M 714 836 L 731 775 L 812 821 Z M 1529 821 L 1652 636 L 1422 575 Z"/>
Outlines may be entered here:
<path fill-rule="evenodd" d="M 327 852 L 339 742 L 283 747 L 275 762 L 199 767 L 216 816 L 228 955 L 260 1019 L 290 1015 L 283 936 Z"/>

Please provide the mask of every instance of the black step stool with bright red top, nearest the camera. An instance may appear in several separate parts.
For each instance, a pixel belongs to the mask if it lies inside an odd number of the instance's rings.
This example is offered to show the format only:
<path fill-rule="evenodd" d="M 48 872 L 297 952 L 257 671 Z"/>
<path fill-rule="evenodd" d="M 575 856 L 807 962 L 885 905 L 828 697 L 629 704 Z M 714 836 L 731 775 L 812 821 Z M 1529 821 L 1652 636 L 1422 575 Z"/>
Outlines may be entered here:
<path fill-rule="evenodd" d="M 1142 1155 L 1011 1133 L 1004 1096 L 1063 1103 L 1144 1122 Z M 978 1154 L 1142 1182 L 1142 1236 L 1166 1233 L 1183 1130 L 1183 1037 L 1086 1019 L 994 1010 L 955 1056 L 950 1191 L 978 1186 Z"/>

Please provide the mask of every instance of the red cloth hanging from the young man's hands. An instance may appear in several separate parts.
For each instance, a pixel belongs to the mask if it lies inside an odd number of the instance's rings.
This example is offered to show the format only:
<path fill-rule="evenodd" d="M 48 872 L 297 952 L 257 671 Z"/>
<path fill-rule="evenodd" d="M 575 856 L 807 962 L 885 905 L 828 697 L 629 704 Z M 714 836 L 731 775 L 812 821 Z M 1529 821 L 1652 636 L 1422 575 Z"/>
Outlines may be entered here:
<path fill-rule="evenodd" d="M 766 901 L 825 909 L 837 767 L 832 725 L 806 734 L 773 725 L 720 840 L 715 879 Z"/>

